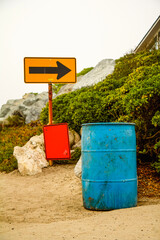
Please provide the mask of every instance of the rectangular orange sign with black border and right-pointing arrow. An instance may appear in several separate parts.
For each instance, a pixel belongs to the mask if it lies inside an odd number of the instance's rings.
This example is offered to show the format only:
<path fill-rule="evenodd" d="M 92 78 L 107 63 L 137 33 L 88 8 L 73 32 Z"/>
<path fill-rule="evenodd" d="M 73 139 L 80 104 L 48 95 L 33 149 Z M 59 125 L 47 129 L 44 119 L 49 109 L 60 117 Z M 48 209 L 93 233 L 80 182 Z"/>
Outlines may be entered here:
<path fill-rule="evenodd" d="M 25 83 L 75 83 L 75 58 L 24 58 Z"/>

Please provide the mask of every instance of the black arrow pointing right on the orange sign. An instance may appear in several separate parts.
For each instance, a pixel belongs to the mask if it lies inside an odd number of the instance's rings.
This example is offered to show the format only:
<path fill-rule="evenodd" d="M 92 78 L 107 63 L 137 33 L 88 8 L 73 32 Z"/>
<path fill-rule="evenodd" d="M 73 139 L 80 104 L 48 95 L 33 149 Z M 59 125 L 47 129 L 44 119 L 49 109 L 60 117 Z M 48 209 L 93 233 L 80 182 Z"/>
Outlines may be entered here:
<path fill-rule="evenodd" d="M 67 68 L 60 62 L 56 62 L 57 67 L 29 67 L 30 74 L 58 74 L 57 79 L 60 79 L 67 73 L 71 71 L 71 69 Z"/>

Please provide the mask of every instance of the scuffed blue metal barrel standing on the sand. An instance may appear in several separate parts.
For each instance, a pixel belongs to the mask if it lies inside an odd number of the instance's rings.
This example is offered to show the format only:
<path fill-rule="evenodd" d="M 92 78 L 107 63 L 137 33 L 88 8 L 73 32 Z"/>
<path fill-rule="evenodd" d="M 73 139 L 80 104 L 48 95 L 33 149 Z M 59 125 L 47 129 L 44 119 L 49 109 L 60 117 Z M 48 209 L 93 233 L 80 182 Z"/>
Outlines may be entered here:
<path fill-rule="evenodd" d="M 135 124 L 82 124 L 82 195 L 87 209 L 137 205 Z"/>

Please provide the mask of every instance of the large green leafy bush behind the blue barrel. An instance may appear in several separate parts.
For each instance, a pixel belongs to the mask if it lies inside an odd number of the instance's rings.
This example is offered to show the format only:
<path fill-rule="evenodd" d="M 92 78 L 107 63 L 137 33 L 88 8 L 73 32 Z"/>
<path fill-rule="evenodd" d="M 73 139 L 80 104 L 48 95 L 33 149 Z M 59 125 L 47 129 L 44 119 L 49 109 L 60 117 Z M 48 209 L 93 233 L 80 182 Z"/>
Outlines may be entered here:
<path fill-rule="evenodd" d="M 127 54 L 113 74 L 95 86 L 53 100 L 53 118 L 79 131 L 87 122 L 136 123 L 138 158 L 158 160 L 160 139 L 160 50 Z M 48 105 L 41 121 L 48 122 Z M 157 148 L 156 148 L 157 146 Z"/>

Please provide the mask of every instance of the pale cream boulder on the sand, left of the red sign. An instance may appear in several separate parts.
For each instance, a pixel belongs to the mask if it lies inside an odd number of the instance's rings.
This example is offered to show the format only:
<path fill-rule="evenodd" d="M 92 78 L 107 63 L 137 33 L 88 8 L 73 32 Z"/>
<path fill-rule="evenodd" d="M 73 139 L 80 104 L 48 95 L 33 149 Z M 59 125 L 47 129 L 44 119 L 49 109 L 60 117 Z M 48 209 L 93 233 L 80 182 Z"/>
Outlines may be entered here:
<path fill-rule="evenodd" d="M 44 152 L 43 134 L 32 137 L 23 147 L 14 147 L 14 157 L 21 175 L 35 175 L 48 166 Z"/>

